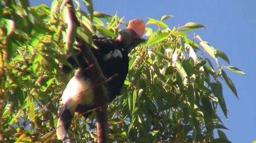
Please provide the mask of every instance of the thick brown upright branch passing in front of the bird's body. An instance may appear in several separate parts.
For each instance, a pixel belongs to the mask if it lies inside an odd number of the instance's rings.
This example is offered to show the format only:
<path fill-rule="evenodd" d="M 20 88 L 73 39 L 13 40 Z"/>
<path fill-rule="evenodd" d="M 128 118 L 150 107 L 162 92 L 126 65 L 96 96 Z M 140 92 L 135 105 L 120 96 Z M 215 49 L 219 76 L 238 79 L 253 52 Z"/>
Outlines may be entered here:
<path fill-rule="evenodd" d="M 65 4 L 69 4 L 68 7 L 68 16 L 70 16 L 70 20 L 76 23 L 77 26 L 80 26 L 78 19 L 74 13 L 74 6 L 72 0 L 65 0 Z M 72 24 L 72 22 L 68 22 Z M 106 109 L 106 87 L 103 83 L 106 79 L 102 74 L 100 66 L 96 58 L 94 57 L 92 51 L 90 50 L 91 45 L 85 43 L 80 38 L 76 37 L 76 41 L 78 42 L 78 47 L 82 51 L 84 58 L 88 65 L 94 64 L 90 68 L 90 79 L 94 87 L 94 101 L 96 104 L 96 114 L 97 114 L 97 132 L 98 132 L 98 141 L 99 143 L 107 143 L 108 142 L 108 127 L 107 127 L 107 109 Z"/>

